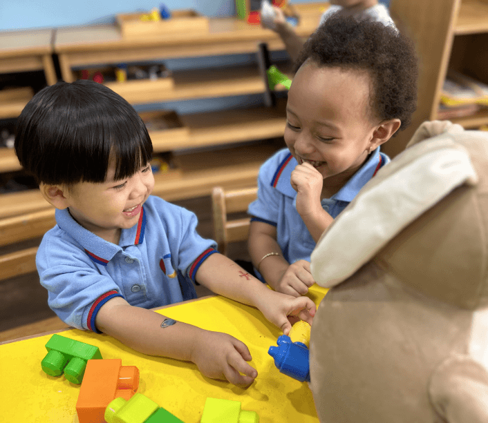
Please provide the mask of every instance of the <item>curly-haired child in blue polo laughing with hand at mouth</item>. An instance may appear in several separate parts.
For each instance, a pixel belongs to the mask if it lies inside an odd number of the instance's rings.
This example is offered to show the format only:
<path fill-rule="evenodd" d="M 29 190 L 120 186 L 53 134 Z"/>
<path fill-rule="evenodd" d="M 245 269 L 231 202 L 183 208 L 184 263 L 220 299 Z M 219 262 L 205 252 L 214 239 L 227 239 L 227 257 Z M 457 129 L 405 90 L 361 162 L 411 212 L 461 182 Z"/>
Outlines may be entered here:
<path fill-rule="evenodd" d="M 261 280 L 304 295 L 310 254 L 389 159 L 380 146 L 416 108 L 413 43 L 376 21 L 329 17 L 308 39 L 288 92 L 285 143 L 259 171 L 248 248 Z"/>

